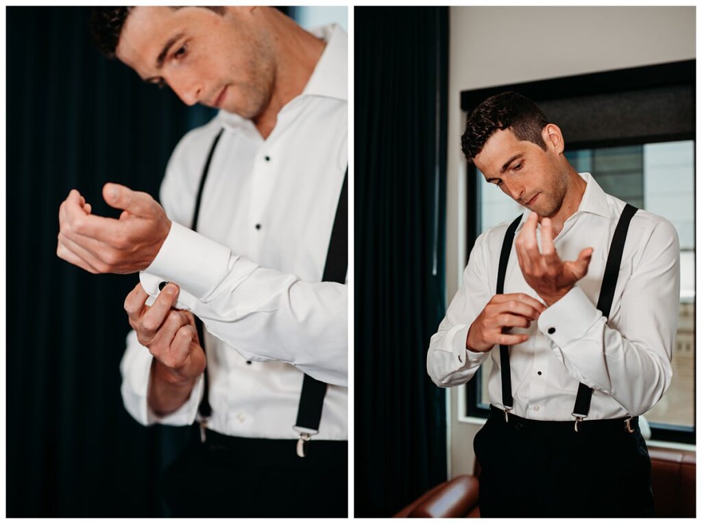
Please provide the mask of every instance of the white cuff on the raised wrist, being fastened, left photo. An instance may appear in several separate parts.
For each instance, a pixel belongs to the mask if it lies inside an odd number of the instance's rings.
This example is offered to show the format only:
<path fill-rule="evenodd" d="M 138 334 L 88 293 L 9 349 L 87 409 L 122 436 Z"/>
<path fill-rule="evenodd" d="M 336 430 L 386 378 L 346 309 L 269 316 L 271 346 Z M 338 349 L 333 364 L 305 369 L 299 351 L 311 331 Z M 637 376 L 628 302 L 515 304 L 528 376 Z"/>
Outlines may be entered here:
<path fill-rule="evenodd" d="M 145 271 L 154 281 L 174 282 L 203 300 L 227 274 L 231 250 L 206 236 L 171 222 L 166 241 Z M 150 290 L 146 288 L 147 293 Z"/>

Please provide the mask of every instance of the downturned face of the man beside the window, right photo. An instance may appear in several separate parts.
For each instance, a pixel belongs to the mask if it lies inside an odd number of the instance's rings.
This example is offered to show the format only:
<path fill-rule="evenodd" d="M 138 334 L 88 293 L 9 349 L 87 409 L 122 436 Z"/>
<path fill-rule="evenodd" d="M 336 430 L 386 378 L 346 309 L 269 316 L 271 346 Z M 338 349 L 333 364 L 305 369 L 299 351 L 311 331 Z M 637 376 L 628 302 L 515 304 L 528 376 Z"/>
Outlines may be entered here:
<path fill-rule="evenodd" d="M 548 126 L 542 136 L 546 151 L 533 142 L 517 139 L 510 129 L 497 130 L 473 162 L 485 180 L 497 184 L 519 205 L 541 217 L 552 217 L 566 196 L 568 177 Z"/>

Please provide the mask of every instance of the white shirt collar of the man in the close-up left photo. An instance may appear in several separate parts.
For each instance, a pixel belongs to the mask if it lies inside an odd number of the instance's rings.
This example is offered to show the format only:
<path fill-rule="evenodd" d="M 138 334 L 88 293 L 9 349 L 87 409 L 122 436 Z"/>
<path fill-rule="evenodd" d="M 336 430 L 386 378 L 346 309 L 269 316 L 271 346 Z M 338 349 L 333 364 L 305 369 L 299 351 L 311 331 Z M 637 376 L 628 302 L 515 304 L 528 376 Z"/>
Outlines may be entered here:
<path fill-rule="evenodd" d="M 338 24 L 321 25 L 309 30 L 326 42 L 312 76 L 299 96 L 322 96 L 348 100 L 348 39 Z M 296 97 L 297 98 L 297 97 Z M 220 109 L 217 119 L 232 128 L 250 124 L 238 114 Z"/>

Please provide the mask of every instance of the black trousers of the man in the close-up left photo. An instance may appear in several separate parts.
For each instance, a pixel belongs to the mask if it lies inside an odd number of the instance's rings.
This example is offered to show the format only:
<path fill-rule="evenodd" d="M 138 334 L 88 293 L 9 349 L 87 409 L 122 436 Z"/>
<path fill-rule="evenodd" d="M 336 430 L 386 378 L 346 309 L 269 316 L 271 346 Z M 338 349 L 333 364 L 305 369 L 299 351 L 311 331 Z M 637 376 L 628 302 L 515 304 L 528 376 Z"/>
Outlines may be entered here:
<path fill-rule="evenodd" d="M 199 432 L 164 473 L 166 504 L 179 517 L 346 517 L 348 443 L 236 438 Z"/>

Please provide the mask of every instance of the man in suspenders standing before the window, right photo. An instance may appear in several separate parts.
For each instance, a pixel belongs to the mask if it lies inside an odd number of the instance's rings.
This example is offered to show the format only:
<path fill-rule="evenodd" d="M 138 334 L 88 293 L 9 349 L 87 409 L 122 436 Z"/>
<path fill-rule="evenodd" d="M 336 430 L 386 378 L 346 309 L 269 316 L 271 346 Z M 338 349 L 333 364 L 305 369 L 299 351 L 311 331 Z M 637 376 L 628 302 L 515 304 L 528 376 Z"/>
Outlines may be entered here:
<path fill-rule="evenodd" d="M 672 376 L 675 229 L 577 173 L 561 130 L 517 93 L 482 102 L 462 145 L 528 210 L 479 236 L 428 351 L 439 387 L 492 356 L 490 415 L 473 443 L 481 515 L 654 516 L 637 415 Z"/>

